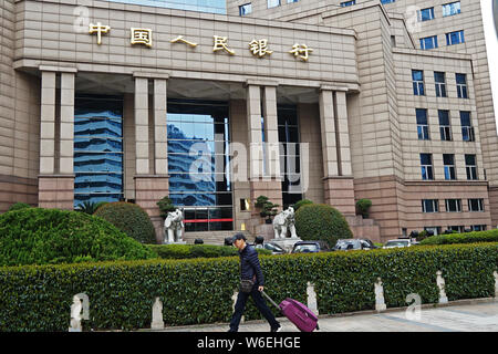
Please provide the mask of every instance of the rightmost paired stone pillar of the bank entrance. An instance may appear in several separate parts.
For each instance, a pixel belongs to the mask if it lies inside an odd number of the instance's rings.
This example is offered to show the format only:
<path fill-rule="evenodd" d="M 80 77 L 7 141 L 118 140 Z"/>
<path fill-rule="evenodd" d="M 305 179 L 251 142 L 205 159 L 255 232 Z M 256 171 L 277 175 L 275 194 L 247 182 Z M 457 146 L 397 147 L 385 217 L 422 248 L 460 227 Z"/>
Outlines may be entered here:
<path fill-rule="evenodd" d="M 334 100 L 335 96 L 335 100 Z M 354 184 L 344 91 L 320 91 L 324 200 L 343 215 L 355 215 Z"/>

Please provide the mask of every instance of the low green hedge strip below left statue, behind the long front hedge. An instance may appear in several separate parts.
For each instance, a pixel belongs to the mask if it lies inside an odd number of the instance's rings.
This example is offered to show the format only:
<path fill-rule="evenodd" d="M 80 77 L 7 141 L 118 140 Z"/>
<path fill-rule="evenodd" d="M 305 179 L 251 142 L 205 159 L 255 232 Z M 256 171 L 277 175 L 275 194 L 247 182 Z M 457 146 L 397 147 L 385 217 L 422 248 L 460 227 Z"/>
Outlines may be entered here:
<path fill-rule="evenodd" d="M 212 244 L 147 244 L 163 259 L 218 258 L 238 256 L 235 247 Z M 256 249 L 259 254 L 271 254 L 270 250 Z"/>

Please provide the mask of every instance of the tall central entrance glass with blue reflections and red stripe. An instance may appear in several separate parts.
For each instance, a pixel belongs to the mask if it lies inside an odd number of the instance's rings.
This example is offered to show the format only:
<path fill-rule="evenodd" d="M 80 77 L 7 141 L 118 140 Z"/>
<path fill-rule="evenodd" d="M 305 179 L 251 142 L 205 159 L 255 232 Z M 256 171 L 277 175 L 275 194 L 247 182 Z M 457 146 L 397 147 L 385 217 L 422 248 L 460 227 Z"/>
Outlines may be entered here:
<path fill-rule="evenodd" d="M 168 100 L 166 119 L 169 198 L 185 207 L 185 230 L 231 230 L 228 105 Z"/>

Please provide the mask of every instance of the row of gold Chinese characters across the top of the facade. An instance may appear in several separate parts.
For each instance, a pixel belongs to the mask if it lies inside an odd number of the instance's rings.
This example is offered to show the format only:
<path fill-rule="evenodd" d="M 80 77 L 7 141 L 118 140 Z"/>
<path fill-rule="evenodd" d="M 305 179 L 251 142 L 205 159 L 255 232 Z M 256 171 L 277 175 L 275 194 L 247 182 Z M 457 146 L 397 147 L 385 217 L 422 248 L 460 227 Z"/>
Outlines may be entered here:
<path fill-rule="evenodd" d="M 111 28 L 108 25 L 103 25 L 101 22 L 97 22 L 96 24 L 90 23 L 89 25 L 89 33 L 97 35 L 97 44 L 102 44 L 102 34 L 107 34 L 111 31 Z M 212 37 L 214 44 L 212 44 L 212 52 L 226 52 L 229 55 L 236 55 L 236 52 L 230 49 L 230 45 L 228 44 L 228 38 L 227 37 L 220 37 L 220 35 L 214 35 Z M 170 43 L 183 43 L 187 44 L 190 48 L 196 48 L 197 43 L 190 42 L 186 40 L 183 35 L 178 35 L 177 38 L 169 41 Z M 131 39 L 129 43 L 132 45 L 135 44 L 143 44 L 147 48 L 153 46 L 153 31 L 151 29 L 138 29 L 138 28 L 131 28 Z M 269 49 L 268 40 L 267 39 L 253 39 L 251 42 L 249 42 L 249 52 L 257 58 L 264 58 L 266 55 L 270 56 L 273 51 Z M 313 50 L 311 48 L 308 48 L 307 44 L 300 44 L 295 43 L 292 45 L 291 50 L 288 52 L 292 54 L 294 58 L 300 59 L 304 62 L 308 61 L 310 53 Z"/>

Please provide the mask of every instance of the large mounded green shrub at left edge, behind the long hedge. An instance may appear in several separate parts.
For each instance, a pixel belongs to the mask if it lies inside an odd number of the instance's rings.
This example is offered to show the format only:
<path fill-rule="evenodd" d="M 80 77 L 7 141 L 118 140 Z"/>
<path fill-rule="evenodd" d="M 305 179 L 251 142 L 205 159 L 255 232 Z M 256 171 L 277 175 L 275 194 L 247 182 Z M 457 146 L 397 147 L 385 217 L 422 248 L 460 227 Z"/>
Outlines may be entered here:
<path fill-rule="evenodd" d="M 83 212 L 25 208 L 0 216 L 0 266 L 154 257 L 110 222 Z"/>

